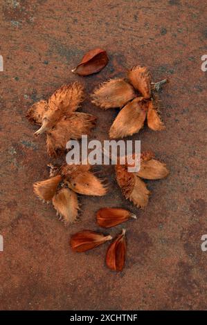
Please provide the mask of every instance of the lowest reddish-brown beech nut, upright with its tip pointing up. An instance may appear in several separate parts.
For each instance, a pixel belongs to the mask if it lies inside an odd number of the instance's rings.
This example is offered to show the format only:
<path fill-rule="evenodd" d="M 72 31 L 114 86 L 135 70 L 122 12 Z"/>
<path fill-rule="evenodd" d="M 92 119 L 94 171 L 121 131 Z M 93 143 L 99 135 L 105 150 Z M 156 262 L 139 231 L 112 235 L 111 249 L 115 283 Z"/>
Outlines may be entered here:
<path fill-rule="evenodd" d="M 106 263 L 108 268 L 113 271 L 122 271 L 125 265 L 125 255 L 127 252 L 127 241 L 125 229 L 116 239 L 109 245 L 106 255 Z"/>

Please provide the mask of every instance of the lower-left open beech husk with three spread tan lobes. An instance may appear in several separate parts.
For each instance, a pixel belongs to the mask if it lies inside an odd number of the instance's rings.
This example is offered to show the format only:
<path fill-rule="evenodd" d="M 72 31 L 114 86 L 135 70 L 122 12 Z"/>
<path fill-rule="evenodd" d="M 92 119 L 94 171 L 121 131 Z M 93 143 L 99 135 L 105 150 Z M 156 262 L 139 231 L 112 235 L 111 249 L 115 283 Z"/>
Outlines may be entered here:
<path fill-rule="evenodd" d="M 57 216 L 67 225 L 78 217 L 78 194 L 102 196 L 107 187 L 91 172 L 90 165 L 48 165 L 50 178 L 33 185 L 42 201 L 52 201 Z"/>

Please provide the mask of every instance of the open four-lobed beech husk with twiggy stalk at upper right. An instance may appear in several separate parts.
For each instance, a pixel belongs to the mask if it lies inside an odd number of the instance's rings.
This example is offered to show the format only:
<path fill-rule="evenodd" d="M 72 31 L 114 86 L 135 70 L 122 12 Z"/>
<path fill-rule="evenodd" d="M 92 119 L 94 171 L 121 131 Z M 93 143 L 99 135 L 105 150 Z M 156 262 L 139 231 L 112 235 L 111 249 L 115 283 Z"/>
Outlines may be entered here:
<path fill-rule="evenodd" d="M 158 113 L 156 91 L 167 80 L 151 82 L 149 70 L 142 66 L 134 66 L 127 76 L 128 81 L 114 79 L 103 82 L 91 95 L 93 104 L 102 109 L 121 109 L 111 125 L 110 138 L 132 136 L 143 128 L 146 119 L 148 127 L 153 131 L 165 129 Z"/>

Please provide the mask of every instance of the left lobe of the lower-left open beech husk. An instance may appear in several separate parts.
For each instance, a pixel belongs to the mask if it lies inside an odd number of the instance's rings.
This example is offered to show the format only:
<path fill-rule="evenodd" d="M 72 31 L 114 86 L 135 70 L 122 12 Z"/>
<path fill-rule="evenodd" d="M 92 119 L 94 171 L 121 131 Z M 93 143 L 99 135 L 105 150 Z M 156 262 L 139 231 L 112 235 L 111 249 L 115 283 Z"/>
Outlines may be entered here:
<path fill-rule="evenodd" d="M 57 175 L 33 184 L 35 194 L 44 201 L 51 201 L 62 177 Z"/>

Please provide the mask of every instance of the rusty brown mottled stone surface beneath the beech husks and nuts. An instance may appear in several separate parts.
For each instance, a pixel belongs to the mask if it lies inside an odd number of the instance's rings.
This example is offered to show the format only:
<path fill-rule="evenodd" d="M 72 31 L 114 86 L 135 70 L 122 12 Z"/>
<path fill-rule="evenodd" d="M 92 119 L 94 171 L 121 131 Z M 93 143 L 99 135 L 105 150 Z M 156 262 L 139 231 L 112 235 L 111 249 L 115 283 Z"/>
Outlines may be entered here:
<path fill-rule="evenodd" d="M 204 309 L 206 259 L 201 235 L 205 210 L 206 3 L 200 0 L 8 0 L 1 4 L 1 309 Z M 98 75 L 71 73 L 96 46 L 109 53 Z M 113 167 L 98 167 L 109 181 L 103 198 L 80 196 L 81 221 L 65 228 L 55 211 L 33 195 L 47 177 L 44 137 L 33 138 L 28 107 L 64 83 L 80 80 L 89 94 L 100 82 L 144 64 L 161 93 L 166 130 L 145 127 L 133 138 L 170 168 L 165 180 L 148 181 L 150 203 L 138 210 L 120 194 Z M 101 111 L 89 97 L 81 111 L 98 116 L 91 138 L 107 139 L 118 110 Z M 71 233 L 100 230 L 100 207 L 125 207 L 137 221 L 127 228 L 127 262 L 115 274 L 105 266 L 107 244 L 75 254 Z M 118 226 L 111 230 L 116 234 Z"/>

